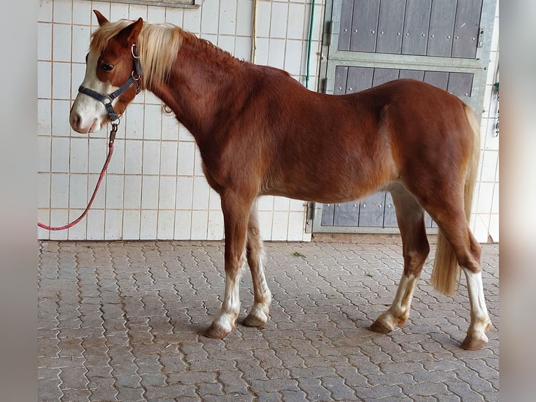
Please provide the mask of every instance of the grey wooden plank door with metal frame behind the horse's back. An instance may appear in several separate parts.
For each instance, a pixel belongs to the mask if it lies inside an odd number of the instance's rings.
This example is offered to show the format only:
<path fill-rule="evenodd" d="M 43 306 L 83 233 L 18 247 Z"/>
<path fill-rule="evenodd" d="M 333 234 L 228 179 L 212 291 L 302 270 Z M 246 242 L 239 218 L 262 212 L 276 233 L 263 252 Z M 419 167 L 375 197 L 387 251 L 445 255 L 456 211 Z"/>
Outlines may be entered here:
<path fill-rule="evenodd" d="M 415 78 L 481 111 L 494 17 L 495 0 L 327 0 L 321 90 L 347 94 Z M 389 193 L 311 203 L 309 216 L 314 232 L 397 231 Z M 435 227 L 428 215 L 426 225 Z"/>

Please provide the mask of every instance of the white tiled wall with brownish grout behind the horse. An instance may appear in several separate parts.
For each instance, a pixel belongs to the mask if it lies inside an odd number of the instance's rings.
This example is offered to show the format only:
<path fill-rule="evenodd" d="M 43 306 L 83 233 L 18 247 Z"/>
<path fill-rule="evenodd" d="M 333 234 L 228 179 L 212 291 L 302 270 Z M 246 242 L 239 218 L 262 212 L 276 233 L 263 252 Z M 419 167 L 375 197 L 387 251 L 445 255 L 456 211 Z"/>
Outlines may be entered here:
<path fill-rule="evenodd" d="M 70 129 L 68 120 L 83 79 L 90 32 L 97 24 L 93 9 L 110 20 L 142 17 L 150 22 L 171 22 L 251 60 L 252 0 L 203 1 L 197 9 L 40 0 L 38 219 L 52 226 L 62 226 L 83 212 L 106 158 L 106 130 L 84 137 Z M 317 0 L 310 88 L 316 88 L 323 11 L 324 1 Z M 310 13 L 311 0 L 259 0 L 256 62 L 286 69 L 304 83 Z M 498 138 L 493 135 L 496 97 L 491 92 L 497 37 L 498 27 L 482 120 L 484 152 L 477 213 L 472 217 L 480 241 L 486 241 L 488 235 L 498 240 Z M 122 118 L 116 138 L 108 172 L 87 218 L 69 230 L 40 228 L 39 238 L 223 238 L 220 200 L 204 179 L 195 142 L 183 126 L 163 113 L 159 99 L 149 92 L 138 95 Z M 305 202 L 267 196 L 260 198 L 258 207 L 265 240 L 310 240 L 311 235 L 304 233 Z"/>

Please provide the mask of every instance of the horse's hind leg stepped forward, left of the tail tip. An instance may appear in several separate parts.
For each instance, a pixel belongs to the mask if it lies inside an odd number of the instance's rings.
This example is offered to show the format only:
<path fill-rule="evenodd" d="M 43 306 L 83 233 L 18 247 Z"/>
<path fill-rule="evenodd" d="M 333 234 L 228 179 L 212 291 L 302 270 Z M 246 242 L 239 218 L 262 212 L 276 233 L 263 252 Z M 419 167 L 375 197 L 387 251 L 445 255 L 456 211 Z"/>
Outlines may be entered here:
<path fill-rule="evenodd" d="M 404 272 L 393 303 L 369 326 L 379 333 L 388 333 L 406 323 L 417 279 L 430 252 L 421 205 L 401 185 L 391 190 L 391 195 L 402 236 Z"/>

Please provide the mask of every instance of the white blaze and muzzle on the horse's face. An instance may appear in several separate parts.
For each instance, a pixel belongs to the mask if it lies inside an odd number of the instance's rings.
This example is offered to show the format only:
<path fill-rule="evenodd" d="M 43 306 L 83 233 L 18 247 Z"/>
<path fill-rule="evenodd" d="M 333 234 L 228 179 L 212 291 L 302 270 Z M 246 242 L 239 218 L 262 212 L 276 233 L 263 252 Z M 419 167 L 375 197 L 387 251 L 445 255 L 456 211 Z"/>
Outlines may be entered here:
<path fill-rule="evenodd" d="M 90 51 L 87 55 L 85 77 L 82 85 L 85 88 L 90 88 L 102 95 L 111 94 L 118 89 L 118 87 L 111 85 L 110 81 L 104 83 L 99 80 L 97 77 L 98 61 L 99 54 Z M 116 102 L 117 99 L 114 99 L 112 105 L 115 105 Z M 107 116 L 108 112 L 106 111 L 104 104 L 89 95 L 78 92 L 73 107 L 71 108 L 69 123 L 76 132 L 89 134 L 90 132 L 101 130 Z"/>

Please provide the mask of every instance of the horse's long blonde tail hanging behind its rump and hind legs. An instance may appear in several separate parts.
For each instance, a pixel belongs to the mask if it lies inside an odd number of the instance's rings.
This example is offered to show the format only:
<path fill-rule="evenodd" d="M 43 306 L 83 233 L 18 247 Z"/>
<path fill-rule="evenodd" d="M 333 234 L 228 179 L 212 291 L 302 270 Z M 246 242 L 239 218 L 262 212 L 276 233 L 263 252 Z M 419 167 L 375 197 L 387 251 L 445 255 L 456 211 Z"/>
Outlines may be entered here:
<path fill-rule="evenodd" d="M 479 166 L 480 128 L 477 118 L 474 116 L 474 112 L 470 106 L 464 104 L 464 109 L 465 116 L 473 134 L 472 158 L 469 168 L 467 169 L 467 176 L 465 177 L 464 186 L 464 209 L 467 221 L 469 221 L 473 201 L 474 185 L 477 182 L 477 172 Z M 456 289 L 458 289 L 460 275 L 461 268 L 458 264 L 456 254 L 454 254 L 449 240 L 446 240 L 444 233 L 439 230 L 439 233 L 437 234 L 434 268 L 432 269 L 430 282 L 437 291 L 446 295 L 451 295 L 456 291 Z"/>

